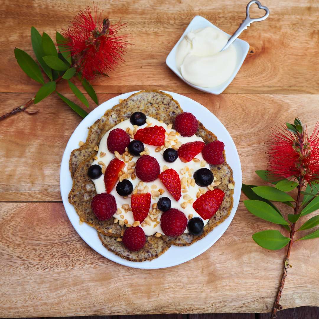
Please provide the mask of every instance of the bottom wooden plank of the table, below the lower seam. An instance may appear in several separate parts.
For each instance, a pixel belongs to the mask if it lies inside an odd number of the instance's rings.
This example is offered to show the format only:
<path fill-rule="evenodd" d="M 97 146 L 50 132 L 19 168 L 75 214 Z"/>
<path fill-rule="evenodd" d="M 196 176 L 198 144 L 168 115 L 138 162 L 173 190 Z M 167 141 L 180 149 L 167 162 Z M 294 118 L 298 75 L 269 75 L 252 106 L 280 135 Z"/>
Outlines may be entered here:
<path fill-rule="evenodd" d="M 2 203 L 1 210 L 3 317 L 268 312 L 277 293 L 285 250 L 262 249 L 251 234 L 280 226 L 242 203 L 210 249 L 164 270 L 133 269 L 100 256 L 78 236 L 62 203 Z M 318 243 L 294 244 L 284 308 L 319 304 Z"/>

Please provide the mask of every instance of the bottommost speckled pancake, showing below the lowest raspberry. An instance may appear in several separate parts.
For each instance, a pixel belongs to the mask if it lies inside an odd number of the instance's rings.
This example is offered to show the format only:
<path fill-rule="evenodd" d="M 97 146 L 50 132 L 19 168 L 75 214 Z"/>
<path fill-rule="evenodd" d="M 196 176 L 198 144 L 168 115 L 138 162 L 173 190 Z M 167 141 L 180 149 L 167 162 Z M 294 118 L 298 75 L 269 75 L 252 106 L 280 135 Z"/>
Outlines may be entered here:
<path fill-rule="evenodd" d="M 142 262 L 145 260 L 152 260 L 160 255 L 164 254 L 171 244 L 160 240 L 155 236 L 146 236 L 145 246 L 139 251 L 130 251 L 122 243 L 122 241 L 117 241 L 115 237 L 104 236 L 101 233 L 99 238 L 102 244 L 112 253 L 130 261 Z"/>

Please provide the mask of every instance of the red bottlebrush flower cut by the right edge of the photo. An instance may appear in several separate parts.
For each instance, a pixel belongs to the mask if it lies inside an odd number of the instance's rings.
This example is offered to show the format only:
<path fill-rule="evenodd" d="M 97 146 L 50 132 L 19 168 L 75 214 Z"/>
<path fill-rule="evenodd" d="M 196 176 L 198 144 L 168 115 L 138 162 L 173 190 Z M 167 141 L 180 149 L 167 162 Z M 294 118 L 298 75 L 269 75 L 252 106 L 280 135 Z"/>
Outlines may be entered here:
<path fill-rule="evenodd" d="M 268 141 L 268 171 L 275 177 L 319 180 L 319 122 L 310 137 L 299 119 L 273 129 Z"/>

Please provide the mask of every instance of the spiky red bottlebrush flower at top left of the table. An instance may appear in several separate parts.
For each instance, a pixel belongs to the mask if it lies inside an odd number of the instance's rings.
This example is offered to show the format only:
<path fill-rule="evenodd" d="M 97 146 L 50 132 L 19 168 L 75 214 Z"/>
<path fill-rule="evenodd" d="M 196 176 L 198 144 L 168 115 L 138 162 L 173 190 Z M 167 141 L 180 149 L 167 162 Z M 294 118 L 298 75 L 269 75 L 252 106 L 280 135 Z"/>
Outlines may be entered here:
<path fill-rule="evenodd" d="M 90 7 L 86 7 L 62 32 L 67 39 L 65 46 L 71 51 L 74 66 L 87 80 L 115 70 L 119 63 L 124 62 L 123 55 L 130 45 L 127 42 L 128 35 L 117 34 L 125 23 L 112 25 L 108 19 L 101 19 L 102 12 L 98 16 L 97 6 L 94 5 L 93 18 Z"/>

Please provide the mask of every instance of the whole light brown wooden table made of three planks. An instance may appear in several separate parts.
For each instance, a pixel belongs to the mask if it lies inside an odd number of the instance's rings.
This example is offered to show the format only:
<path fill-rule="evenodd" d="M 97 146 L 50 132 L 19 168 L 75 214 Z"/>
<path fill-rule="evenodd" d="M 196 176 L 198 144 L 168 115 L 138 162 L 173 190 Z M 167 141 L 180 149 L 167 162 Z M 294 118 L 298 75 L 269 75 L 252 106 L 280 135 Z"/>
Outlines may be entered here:
<path fill-rule="evenodd" d="M 55 36 L 90 1 L 7 1 L 0 7 L 1 112 L 39 89 L 16 63 L 14 47 L 31 55 L 30 27 Z M 190 20 L 202 15 L 227 33 L 244 18 L 247 0 L 99 3 L 112 20 L 128 22 L 126 63 L 93 82 L 100 102 L 157 88 L 184 94 L 208 108 L 237 146 L 243 181 L 260 181 L 269 127 L 299 116 L 313 129 L 319 117 L 319 3 L 267 0 L 271 14 L 241 38 L 249 55 L 225 92 L 199 92 L 169 70 L 165 58 Z M 257 12 L 257 11 L 256 11 Z M 59 90 L 73 99 L 65 84 Z M 95 106 L 91 103 L 90 110 Z M 251 235 L 272 225 L 246 211 L 241 198 L 231 225 L 197 258 L 168 269 L 138 270 L 100 256 L 78 236 L 63 208 L 59 169 L 81 118 L 50 96 L 0 123 L 0 316 L 268 312 L 277 293 L 285 250 L 267 251 Z M 319 306 L 319 239 L 293 247 L 284 308 Z"/>

